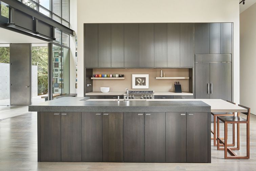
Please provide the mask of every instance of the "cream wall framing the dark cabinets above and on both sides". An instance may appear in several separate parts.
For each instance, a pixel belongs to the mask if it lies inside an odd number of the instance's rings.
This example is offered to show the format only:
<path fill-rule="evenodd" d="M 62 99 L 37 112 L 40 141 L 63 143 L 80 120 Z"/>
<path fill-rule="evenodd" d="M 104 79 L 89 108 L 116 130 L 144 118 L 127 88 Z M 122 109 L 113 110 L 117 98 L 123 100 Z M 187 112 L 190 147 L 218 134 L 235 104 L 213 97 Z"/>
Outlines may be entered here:
<path fill-rule="evenodd" d="M 234 22 L 234 101 L 239 102 L 239 0 L 77 0 L 78 96 L 84 23 Z"/>

